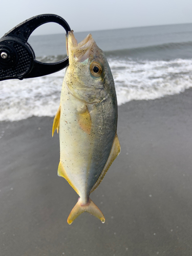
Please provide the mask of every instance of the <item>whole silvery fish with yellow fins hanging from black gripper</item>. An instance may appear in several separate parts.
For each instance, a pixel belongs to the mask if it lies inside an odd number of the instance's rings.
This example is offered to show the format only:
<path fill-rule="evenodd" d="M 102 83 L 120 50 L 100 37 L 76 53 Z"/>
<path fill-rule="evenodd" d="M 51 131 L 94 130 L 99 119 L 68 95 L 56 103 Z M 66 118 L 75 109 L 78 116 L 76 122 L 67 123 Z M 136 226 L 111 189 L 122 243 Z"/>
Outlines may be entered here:
<path fill-rule="evenodd" d="M 117 97 L 113 75 L 103 51 L 89 34 L 79 44 L 73 31 L 66 35 L 69 66 L 62 83 L 60 105 L 53 121 L 59 132 L 58 176 L 79 195 L 68 224 L 82 212 L 105 222 L 90 199 L 120 153 L 117 136 Z"/>

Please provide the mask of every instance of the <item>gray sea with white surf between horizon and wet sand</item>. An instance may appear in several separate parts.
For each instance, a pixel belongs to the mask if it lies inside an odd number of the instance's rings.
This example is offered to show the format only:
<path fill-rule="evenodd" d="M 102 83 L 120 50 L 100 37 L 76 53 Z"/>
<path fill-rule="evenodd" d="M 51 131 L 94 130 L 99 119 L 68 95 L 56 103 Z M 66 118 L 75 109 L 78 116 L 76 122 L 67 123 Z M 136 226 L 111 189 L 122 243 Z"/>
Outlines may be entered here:
<path fill-rule="evenodd" d="M 192 24 L 74 32 L 79 41 L 92 33 L 111 67 L 118 105 L 153 100 L 192 87 Z M 31 36 L 36 59 L 66 57 L 63 34 Z M 65 70 L 44 77 L 0 82 L 0 121 L 54 116 Z"/>

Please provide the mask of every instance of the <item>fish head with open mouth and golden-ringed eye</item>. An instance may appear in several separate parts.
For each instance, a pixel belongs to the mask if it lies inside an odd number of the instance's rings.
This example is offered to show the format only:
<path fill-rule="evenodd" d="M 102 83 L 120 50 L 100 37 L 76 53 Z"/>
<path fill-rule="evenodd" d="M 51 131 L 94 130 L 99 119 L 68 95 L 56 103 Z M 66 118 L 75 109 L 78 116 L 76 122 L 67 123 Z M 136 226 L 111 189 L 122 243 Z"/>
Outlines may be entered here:
<path fill-rule="evenodd" d="M 69 67 L 65 84 L 74 97 L 84 103 L 94 104 L 115 93 L 108 61 L 91 34 L 77 44 L 73 31 L 68 32 L 67 53 Z"/>

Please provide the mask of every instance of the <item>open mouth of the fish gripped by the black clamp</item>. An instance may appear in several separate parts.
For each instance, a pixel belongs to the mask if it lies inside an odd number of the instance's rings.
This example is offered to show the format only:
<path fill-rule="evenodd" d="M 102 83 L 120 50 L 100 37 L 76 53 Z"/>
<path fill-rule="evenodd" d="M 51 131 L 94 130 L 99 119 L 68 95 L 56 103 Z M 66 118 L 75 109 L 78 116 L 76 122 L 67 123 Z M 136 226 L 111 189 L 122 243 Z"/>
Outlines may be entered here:
<path fill-rule="evenodd" d="M 83 62 L 89 58 L 90 50 L 94 44 L 95 40 L 92 35 L 89 34 L 84 38 L 79 44 L 77 44 L 77 39 L 73 34 L 73 30 L 68 32 L 67 35 L 67 53 L 69 55 L 69 63 L 73 61 Z"/>

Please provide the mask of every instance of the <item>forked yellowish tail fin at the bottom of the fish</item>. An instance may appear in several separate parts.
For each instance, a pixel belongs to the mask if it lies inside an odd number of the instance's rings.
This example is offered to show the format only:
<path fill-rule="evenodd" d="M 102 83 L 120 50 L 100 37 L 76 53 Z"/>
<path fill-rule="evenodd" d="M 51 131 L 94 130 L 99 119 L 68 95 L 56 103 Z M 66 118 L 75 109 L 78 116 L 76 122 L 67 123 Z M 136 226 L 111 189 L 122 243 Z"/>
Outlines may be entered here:
<path fill-rule="evenodd" d="M 73 207 L 72 211 L 70 212 L 70 215 L 68 217 L 68 224 L 71 225 L 71 223 L 80 215 L 82 212 L 87 211 L 91 215 L 94 215 L 96 218 L 101 220 L 102 223 L 105 222 L 104 216 L 102 212 L 99 210 L 96 204 L 89 198 L 89 202 L 87 204 L 82 204 L 81 199 L 79 198 L 76 205 Z"/>

